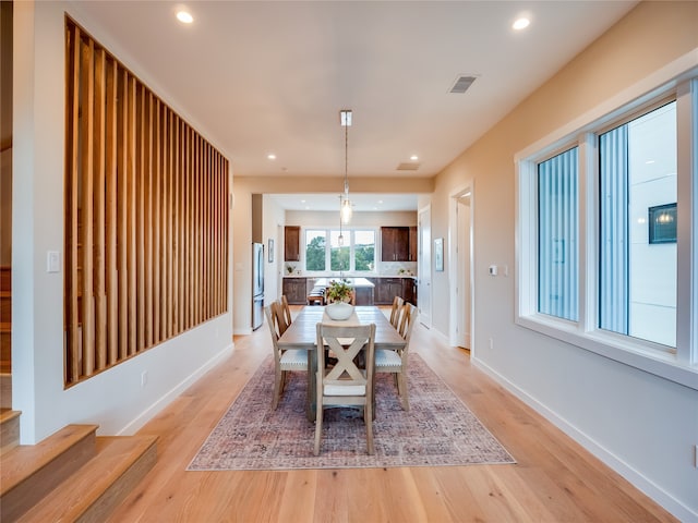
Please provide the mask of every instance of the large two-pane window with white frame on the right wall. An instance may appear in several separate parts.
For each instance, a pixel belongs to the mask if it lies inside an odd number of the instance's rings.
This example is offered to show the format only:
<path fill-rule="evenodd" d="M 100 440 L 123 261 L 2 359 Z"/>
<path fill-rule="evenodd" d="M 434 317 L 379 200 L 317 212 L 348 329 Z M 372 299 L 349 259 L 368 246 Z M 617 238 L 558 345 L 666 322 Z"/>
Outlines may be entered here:
<path fill-rule="evenodd" d="M 517 155 L 516 321 L 695 387 L 698 81 L 636 99 Z"/>

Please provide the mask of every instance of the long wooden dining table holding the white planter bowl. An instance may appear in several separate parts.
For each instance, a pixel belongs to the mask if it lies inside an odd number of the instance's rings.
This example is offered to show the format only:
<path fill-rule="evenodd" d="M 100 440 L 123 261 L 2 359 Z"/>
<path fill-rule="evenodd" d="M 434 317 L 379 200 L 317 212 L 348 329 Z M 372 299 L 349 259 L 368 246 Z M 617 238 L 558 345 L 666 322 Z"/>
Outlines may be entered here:
<path fill-rule="evenodd" d="M 323 323 L 328 325 L 369 325 L 375 324 L 374 346 L 378 349 L 398 350 L 405 346 L 406 341 L 393 327 L 388 318 L 378 307 L 356 306 L 351 316 L 346 320 L 333 320 L 326 313 L 324 306 L 306 305 L 296 316 L 289 328 L 279 338 L 279 349 L 301 349 L 308 351 L 308 401 L 305 414 L 308 421 L 315 421 L 316 405 L 316 372 L 317 357 L 317 331 L 316 325 Z M 374 410 L 375 412 L 375 410 Z"/>

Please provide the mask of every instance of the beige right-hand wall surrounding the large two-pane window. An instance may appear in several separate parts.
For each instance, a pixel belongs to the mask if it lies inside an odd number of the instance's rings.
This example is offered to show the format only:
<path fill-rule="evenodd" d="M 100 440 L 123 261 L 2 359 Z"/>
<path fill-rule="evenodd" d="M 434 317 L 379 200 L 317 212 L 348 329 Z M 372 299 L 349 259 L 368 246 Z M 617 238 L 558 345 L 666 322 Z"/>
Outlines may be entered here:
<path fill-rule="evenodd" d="M 658 71 L 677 62 L 698 63 L 698 2 L 640 3 L 440 173 L 431 210 L 433 238 L 448 236 L 449 196 L 472 186 L 473 361 L 693 521 L 698 482 L 689 454 L 698 441 L 698 391 L 518 327 L 513 271 L 488 276 L 491 264 L 515 267 L 515 154 L 571 131 L 600 107 L 610 110 L 638 83 L 658 87 Z M 453 278 L 434 273 L 434 295 L 448 295 Z M 433 328 L 447 333 L 448 318 L 448 300 L 435 300 Z"/>

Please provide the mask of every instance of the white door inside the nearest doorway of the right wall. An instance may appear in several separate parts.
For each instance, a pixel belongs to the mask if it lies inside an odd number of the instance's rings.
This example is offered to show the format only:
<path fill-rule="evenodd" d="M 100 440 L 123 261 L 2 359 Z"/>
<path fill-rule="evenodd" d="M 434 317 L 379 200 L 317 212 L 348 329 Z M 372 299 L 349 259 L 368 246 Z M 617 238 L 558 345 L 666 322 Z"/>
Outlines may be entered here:
<path fill-rule="evenodd" d="M 458 346 L 470 349 L 470 196 L 455 200 L 457 232 L 457 331 Z"/>

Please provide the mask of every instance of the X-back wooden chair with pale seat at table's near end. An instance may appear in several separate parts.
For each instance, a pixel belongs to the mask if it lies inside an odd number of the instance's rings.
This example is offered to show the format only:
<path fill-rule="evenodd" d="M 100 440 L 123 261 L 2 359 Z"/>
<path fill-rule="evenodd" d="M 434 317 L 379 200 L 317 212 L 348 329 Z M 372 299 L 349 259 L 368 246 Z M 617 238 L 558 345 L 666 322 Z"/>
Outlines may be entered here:
<path fill-rule="evenodd" d="M 366 449 L 373 454 L 373 370 L 375 324 L 330 326 L 317 324 L 317 387 L 315 418 L 315 455 L 320 454 L 323 436 L 323 411 L 330 406 L 363 409 L 366 425 Z M 325 368 L 325 346 L 337 362 Z M 365 368 L 357 365 L 357 355 L 364 352 Z"/>

